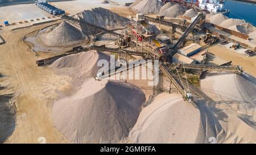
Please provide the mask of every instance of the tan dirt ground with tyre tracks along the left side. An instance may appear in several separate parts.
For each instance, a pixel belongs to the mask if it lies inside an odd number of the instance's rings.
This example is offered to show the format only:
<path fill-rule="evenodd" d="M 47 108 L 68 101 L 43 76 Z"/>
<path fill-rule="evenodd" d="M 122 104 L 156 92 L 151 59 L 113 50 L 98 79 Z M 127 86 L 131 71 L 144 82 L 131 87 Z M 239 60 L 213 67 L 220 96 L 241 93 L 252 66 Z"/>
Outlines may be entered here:
<path fill-rule="evenodd" d="M 52 24 L 52 23 L 49 23 Z M 69 77 L 56 76 L 54 70 L 38 67 L 35 56 L 22 37 L 48 24 L 16 31 L 1 31 L 6 44 L 0 45 L 0 70 L 5 74 L 0 94 L 13 93 L 16 106 L 16 127 L 5 143 L 68 143 L 57 131 L 51 119 L 51 106 L 56 91 L 69 90 Z M 43 138 L 43 139 L 44 139 Z"/>

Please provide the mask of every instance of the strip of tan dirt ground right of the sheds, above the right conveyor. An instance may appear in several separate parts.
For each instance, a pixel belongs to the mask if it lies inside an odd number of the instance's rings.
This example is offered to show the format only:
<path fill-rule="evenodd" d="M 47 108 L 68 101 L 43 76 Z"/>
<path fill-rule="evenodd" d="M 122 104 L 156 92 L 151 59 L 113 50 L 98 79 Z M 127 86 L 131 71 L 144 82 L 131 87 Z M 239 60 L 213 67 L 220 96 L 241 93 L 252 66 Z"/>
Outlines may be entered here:
<path fill-rule="evenodd" d="M 256 77 L 256 56 L 247 57 L 236 53 L 230 49 L 222 47 L 220 45 L 214 45 L 208 49 L 209 53 L 222 58 L 226 61 L 232 61 L 232 65 L 240 65 L 243 71 Z"/>

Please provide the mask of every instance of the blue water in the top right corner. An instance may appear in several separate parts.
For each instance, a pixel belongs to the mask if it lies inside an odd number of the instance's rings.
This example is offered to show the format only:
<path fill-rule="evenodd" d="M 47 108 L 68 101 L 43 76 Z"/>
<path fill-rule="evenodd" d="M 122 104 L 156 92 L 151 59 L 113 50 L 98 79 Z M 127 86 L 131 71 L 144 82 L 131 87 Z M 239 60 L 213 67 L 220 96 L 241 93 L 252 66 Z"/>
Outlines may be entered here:
<path fill-rule="evenodd" d="M 226 0 L 225 9 L 230 10 L 229 18 L 245 19 L 256 26 L 256 4 Z"/>

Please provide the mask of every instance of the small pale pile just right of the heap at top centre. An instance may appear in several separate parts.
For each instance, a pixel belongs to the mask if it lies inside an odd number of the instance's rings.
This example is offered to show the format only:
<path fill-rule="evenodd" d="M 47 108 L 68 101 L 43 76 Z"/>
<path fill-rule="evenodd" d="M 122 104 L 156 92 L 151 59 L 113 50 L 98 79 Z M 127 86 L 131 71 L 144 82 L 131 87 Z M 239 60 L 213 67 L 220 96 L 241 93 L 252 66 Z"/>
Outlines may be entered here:
<path fill-rule="evenodd" d="M 167 9 L 166 11 L 164 11 L 162 14 L 171 18 L 177 18 L 178 16 L 183 15 L 185 11 L 186 11 L 185 7 L 181 5 L 174 5 L 169 9 Z"/>

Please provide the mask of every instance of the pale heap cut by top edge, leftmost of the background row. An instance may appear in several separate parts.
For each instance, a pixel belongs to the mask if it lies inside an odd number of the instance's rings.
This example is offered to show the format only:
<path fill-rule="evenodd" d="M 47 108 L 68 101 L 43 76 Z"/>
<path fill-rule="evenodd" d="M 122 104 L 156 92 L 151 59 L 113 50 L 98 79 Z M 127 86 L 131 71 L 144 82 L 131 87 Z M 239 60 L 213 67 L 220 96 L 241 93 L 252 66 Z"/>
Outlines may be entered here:
<path fill-rule="evenodd" d="M 131 6 L 134 10 L 138 10 L 141 14 L 158 14 L 160 8 L 163 6 L 163 2 L 158 0 L 143 0 L 135 6 Z"/>

